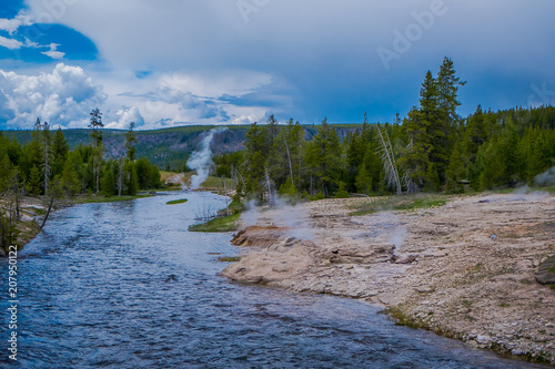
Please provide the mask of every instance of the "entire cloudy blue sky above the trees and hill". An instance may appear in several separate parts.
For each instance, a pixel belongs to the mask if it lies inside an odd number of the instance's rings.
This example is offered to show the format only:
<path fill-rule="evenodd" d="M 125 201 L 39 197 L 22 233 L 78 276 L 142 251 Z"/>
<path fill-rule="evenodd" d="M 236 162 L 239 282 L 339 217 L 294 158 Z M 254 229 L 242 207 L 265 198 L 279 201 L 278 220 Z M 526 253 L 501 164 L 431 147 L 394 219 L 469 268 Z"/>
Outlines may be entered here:
<path fill-rule="evenodd" d="M 445 57 L 458 113 L 555 104 L 553 0 L 0 0 L 0 129 L 391 122 Z"/>

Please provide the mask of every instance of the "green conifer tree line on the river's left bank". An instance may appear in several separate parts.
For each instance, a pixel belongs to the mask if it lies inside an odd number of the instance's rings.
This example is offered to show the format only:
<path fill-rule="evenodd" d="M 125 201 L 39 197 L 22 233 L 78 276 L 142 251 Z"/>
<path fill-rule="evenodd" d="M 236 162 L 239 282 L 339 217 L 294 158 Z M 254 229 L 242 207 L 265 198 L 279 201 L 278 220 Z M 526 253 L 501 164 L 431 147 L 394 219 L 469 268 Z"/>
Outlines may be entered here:
<path fill-rule="evenodd" d="M 90 144 L 70 150 L 63 131 L 51 130 L 37 119 L 32 140 L 20 144 L 0 132 L 0 243 L 17 238 L 19 204 L 23 196 L 48 198 L 48 218 L 54 198 L 75 195 L 135 195 L 139 189 L 161 186 L 160 172 L 147 158 L 135 157 L 134 123 L 121 142 L 125 155 L 105 157 L 102 141 L 102 113 L 90 113 Z"/>

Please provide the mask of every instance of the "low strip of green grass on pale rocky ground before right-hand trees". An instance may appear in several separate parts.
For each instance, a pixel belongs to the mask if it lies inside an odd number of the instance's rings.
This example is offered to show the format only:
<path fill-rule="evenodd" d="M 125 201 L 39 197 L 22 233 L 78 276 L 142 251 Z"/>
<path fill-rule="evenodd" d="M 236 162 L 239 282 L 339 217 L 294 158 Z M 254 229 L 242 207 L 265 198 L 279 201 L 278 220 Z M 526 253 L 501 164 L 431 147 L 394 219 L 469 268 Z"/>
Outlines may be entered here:
<path fill-rule="evenodd" d="M 356 206 L 350 215 L 356 216 L 383 211 L 414 211 L 437 207 L 447 204 L 447 196 L 427 194 L 374 197 L 371 203 Z"/>

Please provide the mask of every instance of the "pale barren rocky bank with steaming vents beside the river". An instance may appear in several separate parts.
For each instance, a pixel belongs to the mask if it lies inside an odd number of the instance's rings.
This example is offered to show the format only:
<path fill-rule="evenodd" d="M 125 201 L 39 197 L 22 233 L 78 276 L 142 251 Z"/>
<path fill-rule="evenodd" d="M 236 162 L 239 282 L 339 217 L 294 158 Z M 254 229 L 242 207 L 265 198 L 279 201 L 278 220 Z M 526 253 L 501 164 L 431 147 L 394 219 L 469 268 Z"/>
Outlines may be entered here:
<path fill-rule="evenodd" d="M 536 281 L 555 254 L 554 196 L 460 196 L 438 207 L 349 215 L 371 201 L 251 216 L 256 226 L 234 238 L 244 255 L 222 274 L 363 298 L 404 324 L 555 365 L 555 290 Z"/>

